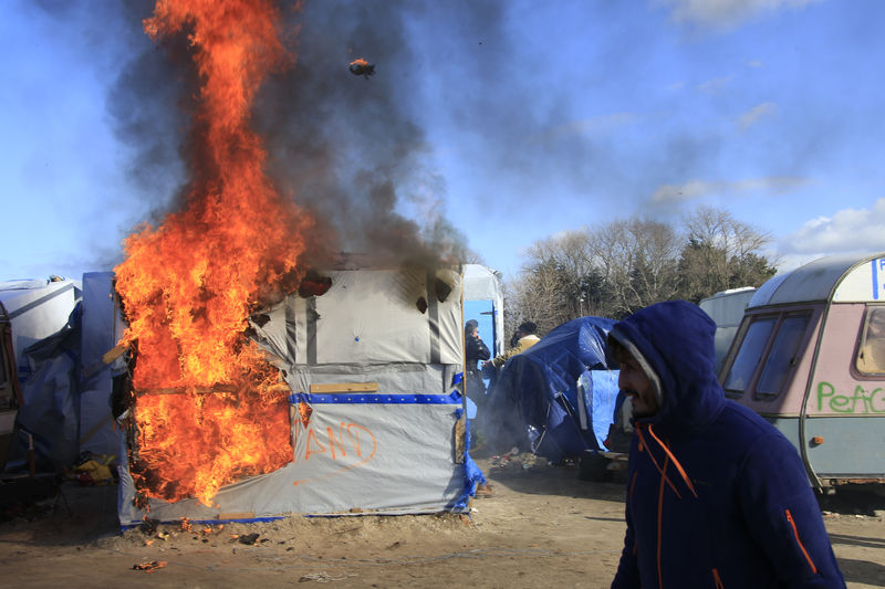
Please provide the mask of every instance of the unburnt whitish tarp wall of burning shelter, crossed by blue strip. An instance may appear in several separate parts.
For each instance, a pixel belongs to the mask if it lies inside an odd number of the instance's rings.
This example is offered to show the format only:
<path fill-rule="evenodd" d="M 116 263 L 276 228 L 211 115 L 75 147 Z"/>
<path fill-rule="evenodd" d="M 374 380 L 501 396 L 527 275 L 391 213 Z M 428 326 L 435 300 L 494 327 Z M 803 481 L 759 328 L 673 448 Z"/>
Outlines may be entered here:
<path fill-rule="evenodd" d="M 331 278 L 325 294 L 292 295 L 253 316 L 257 339 L 283 371 L 293 408 L 306 402 L 312 409 L 306 425 L 298 411 L 281 424 L 291 428 L 292 462 L 222 487 L 211 508 L 196 499 L 150 499 L 152 518 L 462 508 L 482 475 L 464 453 L 460 275 L 400 269 L 323 276 Z M 377 383 L 377 390 L 347 392 L 348 383 Z M 332 392 L 311 392 L 323 385 Z M 133 496 L 124 467 L 124 527 L 145 515 Z"/>

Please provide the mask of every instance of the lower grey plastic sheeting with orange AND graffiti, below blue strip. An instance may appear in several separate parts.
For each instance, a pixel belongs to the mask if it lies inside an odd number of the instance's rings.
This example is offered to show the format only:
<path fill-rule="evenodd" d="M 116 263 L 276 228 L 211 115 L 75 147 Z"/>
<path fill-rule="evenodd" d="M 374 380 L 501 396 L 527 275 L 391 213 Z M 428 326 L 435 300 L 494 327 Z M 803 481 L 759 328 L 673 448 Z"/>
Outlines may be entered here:
<path fill-rule="evenodd" d="M 272 473 L 228 485 L 211 507 L 196 499 L 132 504 L 128 473 L 121 476 L 119 520 L 257 519 L 298 514 L 431 513 L 454 508 L 466 485 L 456 462 L 460 399 L 429 403 L 313 402 L 306 427 L 295 421 L 292 462 Z M 281 424 L 289 427 L 289 424 Z"/>

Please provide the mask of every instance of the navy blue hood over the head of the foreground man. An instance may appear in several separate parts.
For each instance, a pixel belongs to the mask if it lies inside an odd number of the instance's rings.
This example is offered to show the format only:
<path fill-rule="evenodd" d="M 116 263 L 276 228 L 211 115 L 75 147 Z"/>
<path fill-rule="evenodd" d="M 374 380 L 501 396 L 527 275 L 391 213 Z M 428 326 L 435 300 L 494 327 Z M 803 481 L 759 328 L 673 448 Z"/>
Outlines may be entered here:
<path fill-rule="evenodd" d="M 611 336 L 638 353 L 659 379 L 662 409 L 649 421 L 665 428 L 702 427 L 725 395 L 716 379 L 716 324 L 686 301 L 656 303 L 615 324 Z M 637 358 L 637 361 L 639 358 Z"/>

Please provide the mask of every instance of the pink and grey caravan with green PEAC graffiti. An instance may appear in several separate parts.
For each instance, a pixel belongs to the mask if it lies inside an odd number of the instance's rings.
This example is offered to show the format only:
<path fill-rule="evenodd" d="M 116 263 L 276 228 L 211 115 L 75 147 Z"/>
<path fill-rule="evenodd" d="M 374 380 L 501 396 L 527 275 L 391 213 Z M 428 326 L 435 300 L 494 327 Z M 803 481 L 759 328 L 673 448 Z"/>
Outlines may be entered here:
<path fill-rule="evenodd" d="M 885 482 L 885 253 L 764 283 L 719 379 L 796 446 L 815 487 Z"/>

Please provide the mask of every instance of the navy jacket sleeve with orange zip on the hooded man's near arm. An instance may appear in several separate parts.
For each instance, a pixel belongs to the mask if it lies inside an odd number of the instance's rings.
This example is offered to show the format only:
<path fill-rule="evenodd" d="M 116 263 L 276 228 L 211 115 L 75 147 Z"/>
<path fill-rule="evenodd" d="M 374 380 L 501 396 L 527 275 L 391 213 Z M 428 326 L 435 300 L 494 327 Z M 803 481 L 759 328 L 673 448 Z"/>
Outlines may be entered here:
<path fill-rule="evenodd" d="M 781 437 L 759 440 L 746 456 L 741 511 L 782 587 L 845 587 L 805 467 Z"/>

